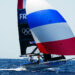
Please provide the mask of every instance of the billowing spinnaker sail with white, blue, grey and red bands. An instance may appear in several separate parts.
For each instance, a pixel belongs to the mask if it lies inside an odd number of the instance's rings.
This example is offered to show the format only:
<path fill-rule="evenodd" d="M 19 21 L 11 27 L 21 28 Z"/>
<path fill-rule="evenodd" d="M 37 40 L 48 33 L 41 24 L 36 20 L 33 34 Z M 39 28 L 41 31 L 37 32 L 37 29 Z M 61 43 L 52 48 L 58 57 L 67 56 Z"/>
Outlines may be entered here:
<path fill-rule="evenodd" d="M 27 20 L 40 52 L 75 55 L 75 36 L 64 17 L 46 0 L 27 0 Z"/>

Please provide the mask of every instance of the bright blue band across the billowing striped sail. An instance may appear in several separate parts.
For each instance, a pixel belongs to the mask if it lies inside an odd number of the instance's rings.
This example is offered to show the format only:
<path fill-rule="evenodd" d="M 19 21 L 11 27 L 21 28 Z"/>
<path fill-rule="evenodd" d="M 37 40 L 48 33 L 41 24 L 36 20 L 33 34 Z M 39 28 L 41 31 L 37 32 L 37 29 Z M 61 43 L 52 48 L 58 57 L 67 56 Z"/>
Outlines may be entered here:
<path fill-rule="evenodd" d="M 57 18 L 58 17 L 58 18 Z M 53 23 L 61 23 L 66 22 L 65 19 L 57 12 L 56 10 L 40 10 L 34 13 L 27 15 L 28 23 L 30 28 L 53 24 Z"/>

